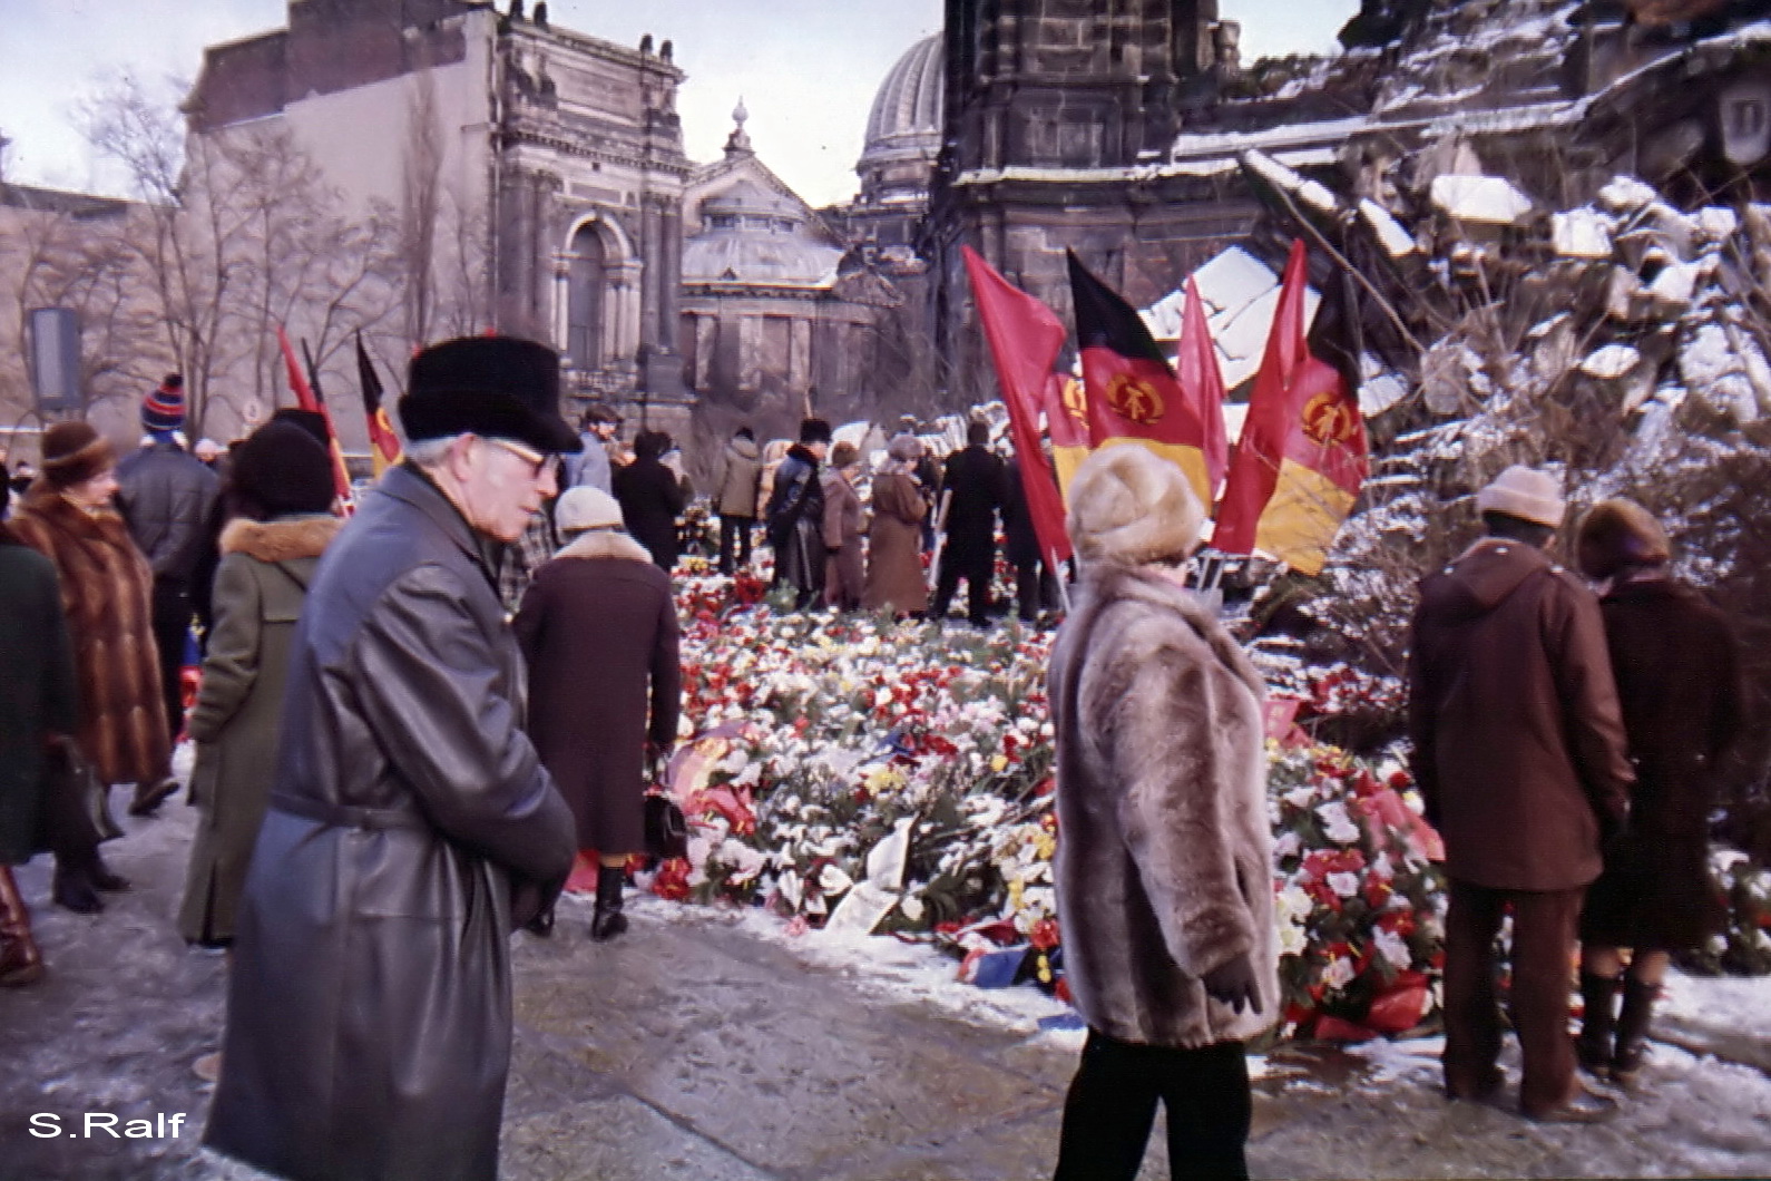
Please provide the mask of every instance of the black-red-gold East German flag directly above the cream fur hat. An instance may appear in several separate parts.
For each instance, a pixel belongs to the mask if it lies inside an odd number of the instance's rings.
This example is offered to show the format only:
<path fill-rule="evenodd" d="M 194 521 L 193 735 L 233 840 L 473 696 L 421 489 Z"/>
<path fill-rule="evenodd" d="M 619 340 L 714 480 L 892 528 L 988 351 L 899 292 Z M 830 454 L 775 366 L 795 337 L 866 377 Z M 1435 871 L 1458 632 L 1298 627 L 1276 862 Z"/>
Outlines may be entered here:
<path fill-rule="evenodd" d="M 1070 294 L 1082 349 L 1082 386 L 1087 391 L 1089 441 L 1094 446 L 1137 443 L 1178 464 L 1199 503 L 1211 505 L 1206 460 L 1206 423 L 1174 379 L 1137 310 L 1089 274 L 1075 251 L 1070 259 Z M 1213 407 L 1213 413 L 1222 414 Z"/>

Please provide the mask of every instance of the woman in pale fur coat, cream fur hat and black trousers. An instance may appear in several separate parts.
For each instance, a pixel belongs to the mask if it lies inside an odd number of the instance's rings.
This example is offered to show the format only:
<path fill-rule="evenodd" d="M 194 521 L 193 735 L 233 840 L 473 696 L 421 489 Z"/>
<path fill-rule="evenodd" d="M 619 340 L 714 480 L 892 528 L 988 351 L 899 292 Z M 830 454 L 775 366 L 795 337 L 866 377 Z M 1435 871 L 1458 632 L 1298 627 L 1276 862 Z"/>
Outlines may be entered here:
<path fill-rule="evenodd" d="M 1243 1043 L 1279 1009 L 1261 676 L 1183 590 L 1204 513 L 1171 462 L 1096 452 L 1082 583 L 1048 673 L 1057 910 L 1089 1025 L 1057 1179 L 1137 1176 L 1160 1101 L 1172 1176 L 1245 1177 Z"/>

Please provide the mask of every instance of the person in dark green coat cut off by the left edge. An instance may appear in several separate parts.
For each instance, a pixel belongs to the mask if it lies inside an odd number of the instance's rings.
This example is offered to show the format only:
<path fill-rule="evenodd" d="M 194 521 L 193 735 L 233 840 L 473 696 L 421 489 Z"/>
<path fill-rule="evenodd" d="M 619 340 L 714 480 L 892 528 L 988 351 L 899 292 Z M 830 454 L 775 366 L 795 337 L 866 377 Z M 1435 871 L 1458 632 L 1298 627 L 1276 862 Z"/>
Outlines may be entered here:
<path fill-rule="evenodd" d="M 12 866 L 30 861 L 44 827 L 48 747 L 76 721 L 74 650 L 55 567 L 0 522 L 0 988 L 43 976 L 30 912 Z"/>

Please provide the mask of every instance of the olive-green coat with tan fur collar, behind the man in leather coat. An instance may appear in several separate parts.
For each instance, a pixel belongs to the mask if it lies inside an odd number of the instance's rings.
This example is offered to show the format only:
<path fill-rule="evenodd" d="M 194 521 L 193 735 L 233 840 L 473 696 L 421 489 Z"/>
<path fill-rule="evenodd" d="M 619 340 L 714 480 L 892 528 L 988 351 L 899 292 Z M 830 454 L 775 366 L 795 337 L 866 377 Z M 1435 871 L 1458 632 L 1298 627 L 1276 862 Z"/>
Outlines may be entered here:
<path fill-rule="evenodd" d="M 221 531 L 214 625 L 188 722 L 197 742 L 191 800 L 202 809 L 179 910 L 188 942 L 234 938 L 234 912 L 271 800 L 296 620 L 313 567 L 342 526 L 336 517 L 239 519 Z"/>

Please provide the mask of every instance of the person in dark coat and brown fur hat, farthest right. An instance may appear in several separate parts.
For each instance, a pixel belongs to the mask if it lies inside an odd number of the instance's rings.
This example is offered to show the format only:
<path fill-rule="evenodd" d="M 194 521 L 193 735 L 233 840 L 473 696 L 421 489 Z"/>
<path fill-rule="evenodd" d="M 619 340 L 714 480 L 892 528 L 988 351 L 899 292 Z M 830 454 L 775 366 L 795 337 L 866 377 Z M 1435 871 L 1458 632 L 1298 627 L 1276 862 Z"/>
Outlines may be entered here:
<path fill-rule="evenodd" d="M 1574 1050 L 1587 1069 L 1628 1084 L 1668 953 L 1697 947 L 1725 917 L 1709 880 L 1709 809 L 1716 767 L 1741 733 L 1741 657 L 1721 613 L 1667 572 L 1672 545 L 1640 505 L 1594 505 L 1576 556 L 1606 584 L 1599 611 L 1636 786 L 1629 827 L 1606 846 L 1580 915 L 1585 1015 Z M 1633 949 L 1628 974 L 1622 947 Z"/>

